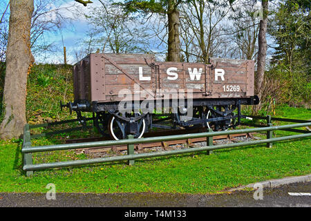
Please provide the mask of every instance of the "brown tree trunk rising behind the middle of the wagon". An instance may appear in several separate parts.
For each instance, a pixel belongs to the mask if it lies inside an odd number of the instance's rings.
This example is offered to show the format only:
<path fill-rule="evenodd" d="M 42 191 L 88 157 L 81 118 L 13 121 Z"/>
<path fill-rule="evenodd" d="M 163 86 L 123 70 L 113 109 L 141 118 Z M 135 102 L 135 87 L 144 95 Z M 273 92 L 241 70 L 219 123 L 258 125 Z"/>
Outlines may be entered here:
<path fill-rule="evenodd" d="M 180 61 L 179 11 L 175 0 L 168 1 L 167 17 L 169 19 L 168 61 Z"/>

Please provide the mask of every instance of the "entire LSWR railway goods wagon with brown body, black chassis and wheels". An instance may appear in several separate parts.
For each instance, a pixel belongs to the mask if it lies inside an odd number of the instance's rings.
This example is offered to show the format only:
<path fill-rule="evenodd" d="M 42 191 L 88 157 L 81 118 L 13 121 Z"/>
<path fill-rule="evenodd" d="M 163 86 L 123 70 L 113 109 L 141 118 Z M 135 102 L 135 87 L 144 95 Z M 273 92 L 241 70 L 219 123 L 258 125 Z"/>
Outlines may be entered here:
<path fill-rule="evenodd" d="M 151 128 L 227 130 L 240 123 L 241 105 L 256 105 L 254 61 L 210 58 L 209 64 L 158 62 L 154 55 L 88 55 L 73 68 L 74 102 L 115 140 Z"/>

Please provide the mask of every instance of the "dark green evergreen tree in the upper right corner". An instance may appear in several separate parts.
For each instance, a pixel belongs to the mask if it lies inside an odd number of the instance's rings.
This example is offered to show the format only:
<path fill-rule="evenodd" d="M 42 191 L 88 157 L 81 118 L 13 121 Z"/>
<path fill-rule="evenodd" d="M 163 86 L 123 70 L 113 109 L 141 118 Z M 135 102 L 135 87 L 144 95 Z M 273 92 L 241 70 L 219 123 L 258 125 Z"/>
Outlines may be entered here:
<path fill-rule="evenodd" d="M 301 58 L 306 65 L 310 64 L 310 9 L 304 7 L 303 2 L 281 2 L 268 29 L 278 45 L 274 48 L 272 63 L 282 62 L 290 73 Z"/>

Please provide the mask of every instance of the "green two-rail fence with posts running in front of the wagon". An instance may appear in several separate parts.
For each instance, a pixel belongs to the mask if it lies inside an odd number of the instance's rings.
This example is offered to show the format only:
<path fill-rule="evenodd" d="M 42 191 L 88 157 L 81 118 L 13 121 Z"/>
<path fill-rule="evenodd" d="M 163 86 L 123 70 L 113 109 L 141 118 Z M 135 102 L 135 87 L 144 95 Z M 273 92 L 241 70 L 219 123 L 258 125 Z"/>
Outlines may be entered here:
<path fill-rule="evenodd" d="M 238 146 L 249 146 L 255 144 L 267 144 L 267 147 L 272 147 L 273 142 L 279 142 L 282 140 L 290 140 L 296 138 L 310 137 L 310 131 L 303 131 L 301 129 L 293 129 L 293 128 L 301 128 L 306 126 L 311 126 L 311 121 L 305 120 L 297 120 L 297 119 L 283 119 L 276 117 L 258 117 L 258 116 L 247 116 L 257 119 L 267 119 L 267 126 L 260 128 L 247 128 L 240 130 L 232 130 L 232 131 L 217 131 L 213 132 L 209 129 L 209 132 L 206 133 L 193 133 L 193 134 L 182 134 L 182 135 L 168 135 L 161 137 L 147 137 L 147 138 L 139 138 L 133 139 L 132 135 L 129 135 L 126 140 L 109 140 L 109 141 L 100 141 L 100 142 L 84 142 L 84 143 L 75 143 L 75 144 L 58 144 L 58 145 L 49 145 L 49 146 L 31 146 L 31 138 L 30 135 L 30 127 L 28 124 L 24 127 L 23 133 L 23 147 L 21 149 L 21 153 L 23 154 L 23 170 L 26 171 L 26 175 L 32 175 L 33 171 L 41 170 L 41 169 L 52 169 L 52 168 L 60 168 L 65 166 L 81 166 L 85 164 L 98 164 L 103 162 L 117 162 L 117 161 L 128 161 L 129 164 L 135 164 L 135 160 L 147 158 L 147 157 L 160 157 L 166 155 L 176 155 L 182 153 L 194 153 L 200 151 L 207 151 L 207 154 L 210 151 L 222 148 L 232 148 Z M 299 122 L 299 124 L 288 124 L 281 126 L 272 126 L 272 120 L 282 120 L 284 122 Z M 292 120 L 292 121 L 290 121 Z M 34 127 L 32 127 L 34 128 Z M 283 131 L 292 131 L 296 133 L 302 133 L 299 135 L 289 135 L 285 137 L 274 137 L 272 136 L 272 131 L 283 130 Z M 217 135 L 232 135 L 236 133 L 253 133 L 253 132 L 266 132 L 267 139 L 263 140 L 255 140 L 251 142 L 238 142 L 234 144 L 220 144 L 213 145 L 213 137 Z M 194 147 L 194 148 L 185 148 L 182 150 L 173 150 L 173 151 L 161 151 L 156 153 L 138 153 L 134 154 L 134 144 L 143 144 L 150 142 L 165 142 L 170 140 L 182 140 L 189 138 L 198 138 L 198 137 L 207 137 L 207 146 L 203 147 Z M 32 153 L 36 152 L 44 152 L 44 151 L 61 151 L 61 150 L 71 150 L 78 148 L 90 148 L 97 146 L 115 146 L 115 145 L 127 145 L 127 153 L 128 155 L 122 156 L 114 156 L 114 157 L 100 157 L 88 160 L 70 160 L 66 162 L 51 162 L 45 164 L 32 164 Z"/>

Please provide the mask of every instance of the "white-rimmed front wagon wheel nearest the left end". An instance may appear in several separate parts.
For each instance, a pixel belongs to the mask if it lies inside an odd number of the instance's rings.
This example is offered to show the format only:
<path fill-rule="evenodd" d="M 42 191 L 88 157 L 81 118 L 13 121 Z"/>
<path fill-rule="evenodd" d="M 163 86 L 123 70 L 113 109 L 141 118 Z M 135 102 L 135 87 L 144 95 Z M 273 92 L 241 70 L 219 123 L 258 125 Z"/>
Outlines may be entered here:
<path fill-rule="evenodd" d="M 118 115 L 121 115 L 120 113 Z M 127 114 L 125 115 L 126 119 L 130 119 L 130 117 L 138 117 L 140 113 L 135 114 Z M 123 117 L 123 116 L 122 116 Z M 129 121 L 123 121 L 122 119 L 111 116 L 108 123 L 108 131 L 111 137 L 115 140 L 125 139 L 128 135 L 126 131 L 126 126 L 129 126 Z M 138 133 L 134 135 L 135 138 L 140 138 L 144 134 L 146 128 L 146 122 L 144 118 L 138 119 Z"/>

